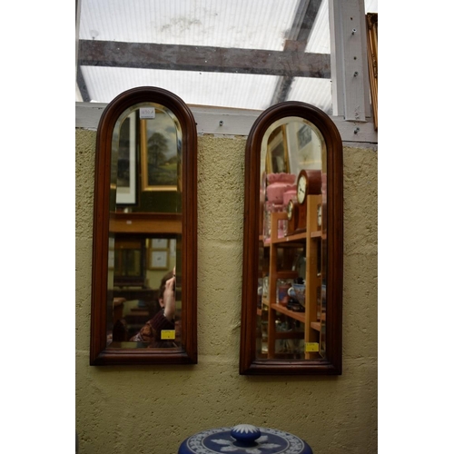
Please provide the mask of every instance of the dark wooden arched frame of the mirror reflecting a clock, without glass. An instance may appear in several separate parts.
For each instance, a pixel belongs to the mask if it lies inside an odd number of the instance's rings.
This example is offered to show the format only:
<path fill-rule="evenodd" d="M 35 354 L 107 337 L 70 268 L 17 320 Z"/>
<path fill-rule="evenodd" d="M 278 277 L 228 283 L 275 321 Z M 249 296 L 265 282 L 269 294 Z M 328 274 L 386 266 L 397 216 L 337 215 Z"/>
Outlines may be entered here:
<path fill-rule="evenodd" d="M 256 358 L 257 282 L 262 138 L 272 123 L 301 117 L 316 126 L 326 143 L 327 159 L 327 269 L 326 358 L 275 360 Z M 343 160 L 341 135 L 319 108 L 288 101 L 272 105 L 253 123 L 245 151 L 244 238 L 242 270 L 242 325 L 240 374 L 341 375 L 343 279 Z"/>

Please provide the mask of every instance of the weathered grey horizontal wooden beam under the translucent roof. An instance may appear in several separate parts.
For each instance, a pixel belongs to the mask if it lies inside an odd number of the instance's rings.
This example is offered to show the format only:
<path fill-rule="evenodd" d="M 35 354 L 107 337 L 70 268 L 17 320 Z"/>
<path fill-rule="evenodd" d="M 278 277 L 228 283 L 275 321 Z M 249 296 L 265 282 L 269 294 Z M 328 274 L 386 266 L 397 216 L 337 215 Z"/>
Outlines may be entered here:
<path fill-rule="evenodd" d="M 82 39 L 79 44 L 79 64 L 87 66 L 331 78 L 330 54 L 305 53 L 297 41 L 287 42 L 284 51 Z"/>

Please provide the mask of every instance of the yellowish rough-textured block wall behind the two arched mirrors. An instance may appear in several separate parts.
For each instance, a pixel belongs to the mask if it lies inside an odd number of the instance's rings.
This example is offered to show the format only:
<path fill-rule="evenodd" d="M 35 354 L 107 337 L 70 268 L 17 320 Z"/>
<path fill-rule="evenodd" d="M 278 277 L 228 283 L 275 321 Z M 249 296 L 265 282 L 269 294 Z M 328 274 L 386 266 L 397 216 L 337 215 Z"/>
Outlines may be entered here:
<path fill-rule="evenodd" d="M 193 366 L 90 367 L 93 131 L 76 130 L 76 429 L 80 454 L 176 454 L 202 429 L 289 431 L 314 454 L 377 452 L 377 152 L 344 148 L 343 374 L 238 374 L 245 137 L 199 137 Z"/>

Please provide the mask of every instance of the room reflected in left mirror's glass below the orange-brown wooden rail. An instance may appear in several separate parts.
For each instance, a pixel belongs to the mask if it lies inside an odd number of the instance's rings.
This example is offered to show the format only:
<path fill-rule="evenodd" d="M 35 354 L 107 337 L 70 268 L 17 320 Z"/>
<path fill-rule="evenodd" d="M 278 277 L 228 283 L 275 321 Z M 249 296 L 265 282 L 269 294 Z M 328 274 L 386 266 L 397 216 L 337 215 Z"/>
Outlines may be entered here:
<path fill-rule="evenodd" d="M 180 287 L 175 286 L 173 292 L 171 286 L 172 304 L 165 307 L 166 283 L 173 280 L 174 271 L 181 267 L 181 256 L 177 260 L 176 254 L 181 235 L 178 237 L 115 235 L 111 252 L 113 306 L 112 312 L 108 312 L 112 318 L 107 320 L 109 347 L 181 348 Z"/>

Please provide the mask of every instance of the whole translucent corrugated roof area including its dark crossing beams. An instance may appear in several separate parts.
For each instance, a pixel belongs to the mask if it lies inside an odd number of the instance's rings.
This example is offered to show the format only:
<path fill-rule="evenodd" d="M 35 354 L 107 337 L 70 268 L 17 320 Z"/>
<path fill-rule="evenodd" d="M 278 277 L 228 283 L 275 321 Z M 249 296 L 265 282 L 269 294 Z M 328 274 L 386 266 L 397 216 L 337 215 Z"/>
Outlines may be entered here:
<path fill-rule="evenodd" d="M 76 101 L 152 85 L 187 104 L 331 114 L 328 0 L 81 1 Z"/>

